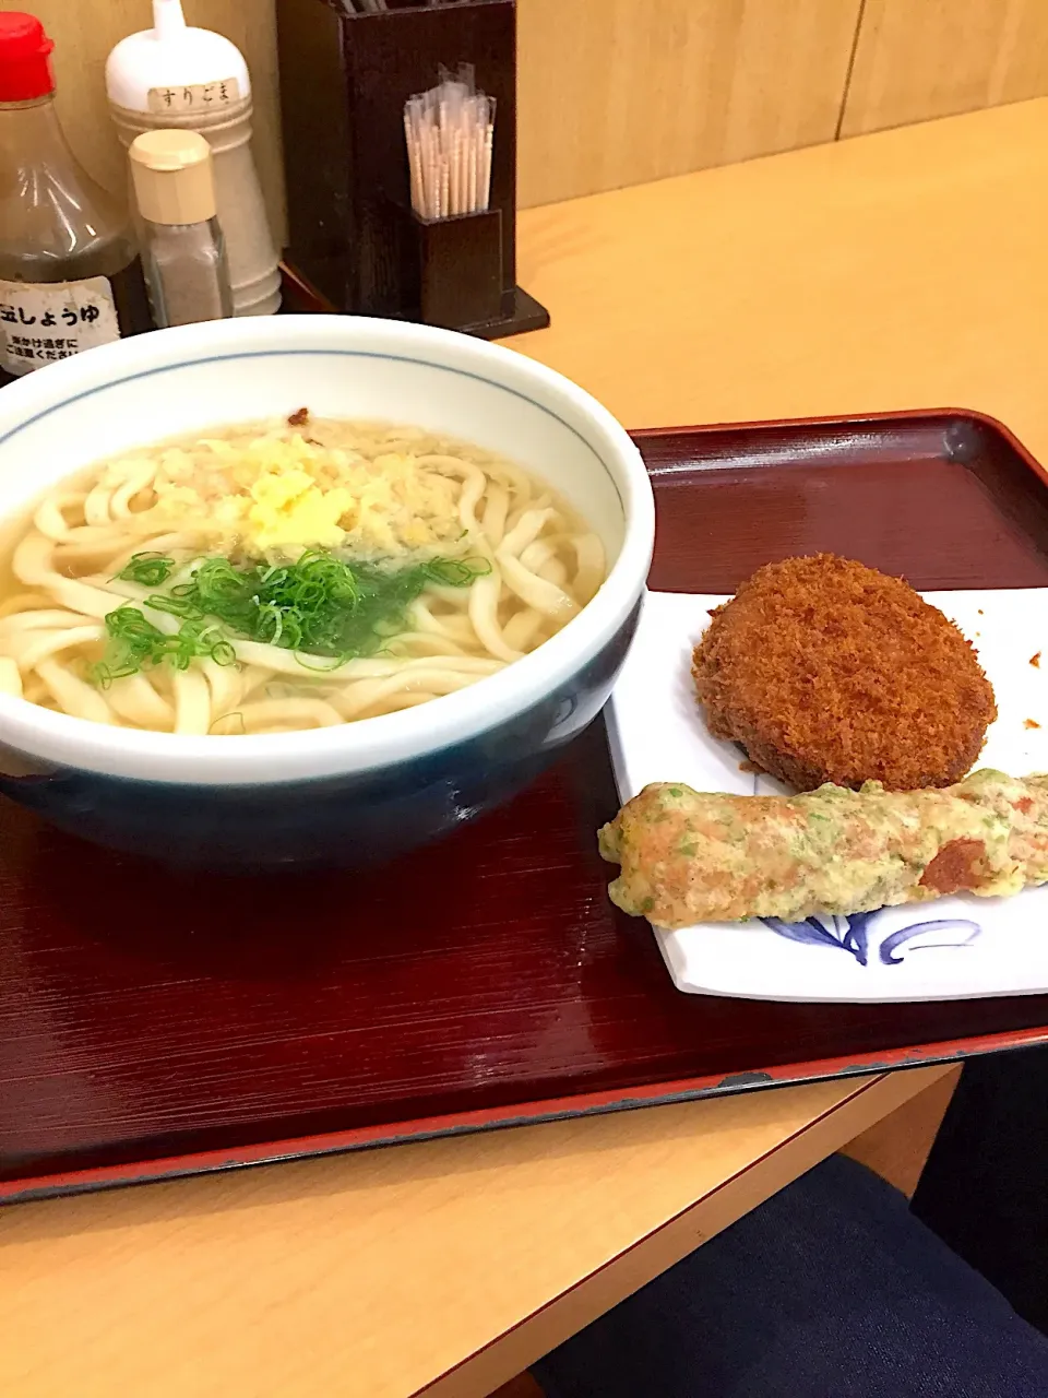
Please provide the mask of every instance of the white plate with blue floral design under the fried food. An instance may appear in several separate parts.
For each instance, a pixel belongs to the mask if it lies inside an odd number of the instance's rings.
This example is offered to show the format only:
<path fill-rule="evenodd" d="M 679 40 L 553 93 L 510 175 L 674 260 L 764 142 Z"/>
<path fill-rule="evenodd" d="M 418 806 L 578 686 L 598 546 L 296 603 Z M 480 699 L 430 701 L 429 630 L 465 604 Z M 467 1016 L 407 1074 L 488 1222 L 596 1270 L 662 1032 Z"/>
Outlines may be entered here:
<path fill-rule="evenodd" d="M 1048 590 L 925 593 L 973 642 L 996 693 L 980 766 L 1048 772 Z M 697 791 L 785 793 L 713 738 L 692 650 L 724 597 L 648 593 L 608 707 L 619 795 L 650 781 Z M 1044 650 L 1044 665 L 1031 660 Z M 1034 727 L 1033 724 L 1037 724 Z M 612 871 L 609 868 L 609 875 Z M 655 928 L 678 990 L 749 1000 L 966 1000 L 1048 993 L 1048 885 L 1012 899 L 943 898 L 852 917 Z"/>

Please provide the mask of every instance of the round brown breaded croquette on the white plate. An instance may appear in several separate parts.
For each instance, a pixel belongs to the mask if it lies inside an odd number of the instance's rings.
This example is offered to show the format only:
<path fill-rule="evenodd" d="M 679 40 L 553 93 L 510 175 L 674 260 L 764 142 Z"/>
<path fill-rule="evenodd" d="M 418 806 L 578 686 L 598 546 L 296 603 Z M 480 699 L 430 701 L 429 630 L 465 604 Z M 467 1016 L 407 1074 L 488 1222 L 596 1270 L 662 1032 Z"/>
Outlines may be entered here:
<path fill-rule="evenodd" d="M 798 791 L 959 781 L 996 719 L 975 651 L 898 577 L 833 554 L 757 569 L 692 674 L 710 731 Z"/>

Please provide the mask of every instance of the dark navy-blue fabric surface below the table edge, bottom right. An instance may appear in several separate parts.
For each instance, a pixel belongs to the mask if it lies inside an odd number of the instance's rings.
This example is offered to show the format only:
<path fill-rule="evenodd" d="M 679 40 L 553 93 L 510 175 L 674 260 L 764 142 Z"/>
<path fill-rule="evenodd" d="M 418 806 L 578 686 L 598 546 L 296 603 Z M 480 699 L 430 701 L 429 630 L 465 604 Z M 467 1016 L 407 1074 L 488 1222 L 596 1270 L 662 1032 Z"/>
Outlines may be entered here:
<path fill-rule="evenodd" d="M 1048 1398 L 1048 1338 L 833 1156 L 534 1371 L 548 1398 Z"/>

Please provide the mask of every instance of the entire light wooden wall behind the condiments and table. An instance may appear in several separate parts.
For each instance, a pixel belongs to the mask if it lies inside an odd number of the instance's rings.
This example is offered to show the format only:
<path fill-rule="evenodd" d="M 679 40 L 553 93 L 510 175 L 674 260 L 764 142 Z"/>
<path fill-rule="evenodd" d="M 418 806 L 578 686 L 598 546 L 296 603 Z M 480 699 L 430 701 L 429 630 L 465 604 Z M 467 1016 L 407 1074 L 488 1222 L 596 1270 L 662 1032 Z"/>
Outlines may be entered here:
<path fill-rule="evenodd" d="M 56 41 L 74 150 L 123 190 L 102 71 L 119 38 L 148 27 L 150 0 L 0 0 L 24 6 Z M 184 6 L 247 57 L 282 231 L 274 0 Z M 829 141 L 838 124 L 852 136 L 1048 92 L 1048 0 L 518 0 L 518 13 L 521 207 Z"/>

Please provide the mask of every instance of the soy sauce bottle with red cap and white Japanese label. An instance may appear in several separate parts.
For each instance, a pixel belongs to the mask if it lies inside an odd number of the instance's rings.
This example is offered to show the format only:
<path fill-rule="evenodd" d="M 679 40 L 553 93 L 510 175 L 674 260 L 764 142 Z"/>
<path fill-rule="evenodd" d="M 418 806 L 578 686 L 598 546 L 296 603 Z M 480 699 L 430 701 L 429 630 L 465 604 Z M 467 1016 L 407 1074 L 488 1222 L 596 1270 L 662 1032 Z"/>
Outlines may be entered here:
<path fill-rule="evenodd" d="M 59 126 L 53 48 L 0 14 L 0 383 L 152 329 L 130 219 Z"/>

